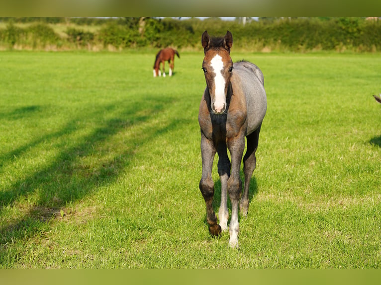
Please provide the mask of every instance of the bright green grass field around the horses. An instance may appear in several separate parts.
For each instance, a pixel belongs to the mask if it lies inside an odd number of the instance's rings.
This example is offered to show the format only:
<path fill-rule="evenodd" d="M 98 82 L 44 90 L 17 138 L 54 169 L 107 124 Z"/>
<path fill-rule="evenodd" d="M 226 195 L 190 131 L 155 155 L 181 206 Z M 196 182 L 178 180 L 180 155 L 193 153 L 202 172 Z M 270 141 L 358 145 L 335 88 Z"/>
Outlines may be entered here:
<path fill-rule="evenodd" d="M 231 56 L 268 95 L 238 250 L 198 190 L 202 53 L 1 52 L 0 267 L 380 268 L 381 55 Z"/>

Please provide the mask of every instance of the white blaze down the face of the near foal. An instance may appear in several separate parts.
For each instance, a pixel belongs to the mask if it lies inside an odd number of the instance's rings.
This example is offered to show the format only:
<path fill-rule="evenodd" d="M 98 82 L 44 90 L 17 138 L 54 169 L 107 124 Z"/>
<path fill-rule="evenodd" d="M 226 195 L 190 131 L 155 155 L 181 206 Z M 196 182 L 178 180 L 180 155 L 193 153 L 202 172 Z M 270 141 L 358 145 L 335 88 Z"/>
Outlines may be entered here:
<path fill-rule="evenodd" d="M 215 111 L 221 111 L 225 104 L 225 79 L 222 76 L 223 62 L 219 55 L 210 61 L 210 65 L 213 68 L 214 73 L 214 107 Z"/>

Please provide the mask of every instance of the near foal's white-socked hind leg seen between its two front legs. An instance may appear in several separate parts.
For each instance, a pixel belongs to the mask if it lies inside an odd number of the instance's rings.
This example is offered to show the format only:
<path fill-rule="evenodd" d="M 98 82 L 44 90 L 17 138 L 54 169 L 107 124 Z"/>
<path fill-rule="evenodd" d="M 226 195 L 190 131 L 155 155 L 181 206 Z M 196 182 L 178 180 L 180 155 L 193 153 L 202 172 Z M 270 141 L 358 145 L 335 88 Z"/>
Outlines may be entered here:
<path fill-rule="evenodd" d="M 226 143 L 219 143 L 217 147 L 218 152 L 218 174 L 221 180 L 221 204 L 218 211 L 219 224 L 222 231 L 227 230 L 227 220 L 229 219 L 229 212 L 227 210 L 227 180 L 230 176 L 230 160 L 227 155 Z"/>

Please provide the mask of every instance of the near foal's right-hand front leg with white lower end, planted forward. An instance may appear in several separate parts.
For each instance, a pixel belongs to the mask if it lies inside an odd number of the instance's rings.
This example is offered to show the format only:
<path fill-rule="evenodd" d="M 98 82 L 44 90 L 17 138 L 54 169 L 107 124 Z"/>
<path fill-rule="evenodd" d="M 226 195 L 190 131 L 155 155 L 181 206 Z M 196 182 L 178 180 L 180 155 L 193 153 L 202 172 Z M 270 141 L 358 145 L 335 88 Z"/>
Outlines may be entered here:
<path fill-rule="evenodd" d="M 229 244 L 232 248 L 238 248 L 238 233 L 239 233 L 239 223 L 238 223 L 238 204 L 239 198 L 242 192 L 242 181 L 239 176 L 239 170 L 241 167 L 241 159 L 243 150 L 245 148 L 245 136 L 239 134 L 235 138 L 227 140 L 227 146 L 230 151 L 231 156 L 231 174 L 229 180 L 227 181 L 227 189 L 229 193 L 229 198 L 231 201 L 231 219 L 229 224 Z"/>

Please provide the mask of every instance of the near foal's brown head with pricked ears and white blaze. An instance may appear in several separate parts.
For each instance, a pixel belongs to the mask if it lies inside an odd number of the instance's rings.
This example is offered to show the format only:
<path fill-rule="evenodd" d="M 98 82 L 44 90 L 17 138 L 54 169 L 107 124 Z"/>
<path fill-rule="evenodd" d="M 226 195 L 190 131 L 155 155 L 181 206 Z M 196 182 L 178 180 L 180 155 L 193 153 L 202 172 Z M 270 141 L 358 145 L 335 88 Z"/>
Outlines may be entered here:
<path fill-rule="evenodd" d="M 210 94 L 210 107 L 213 113 L 222 114 L 226 110 L 226 94 L 233 71 L 233 62 L 230 57 L 233 36 L 227 31 L 222 38 L 211 38 L 205 31 L 202 34 L 201 43 L 205 54 L 202 70 Z"/>

